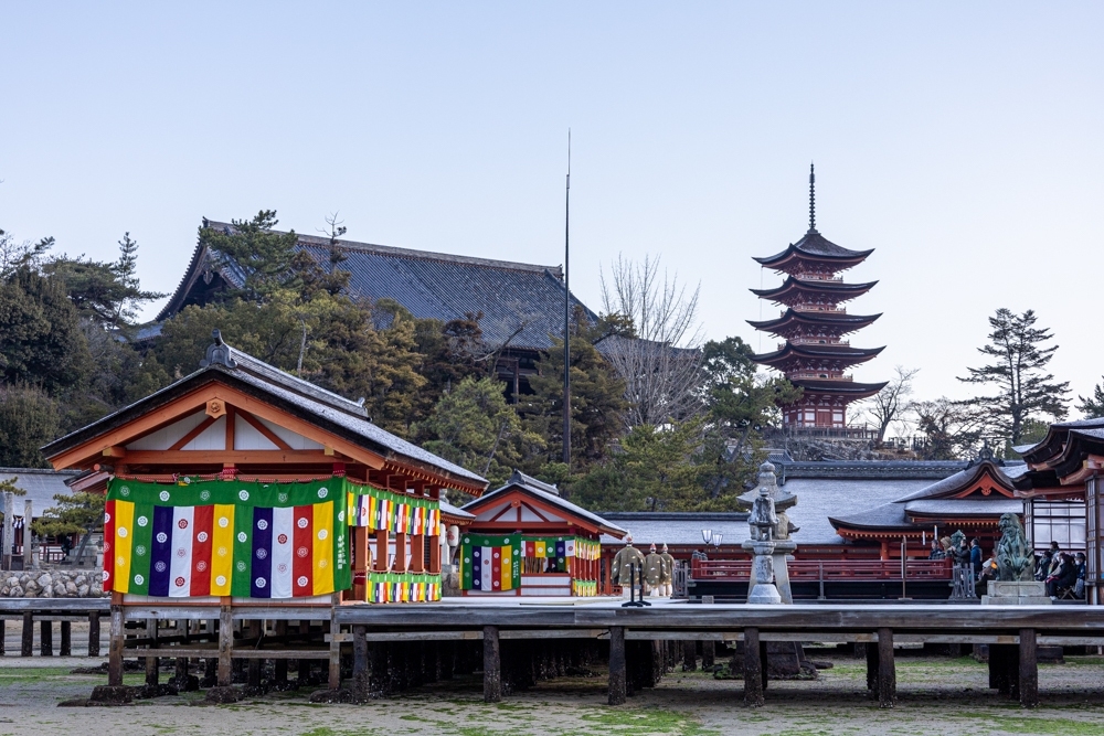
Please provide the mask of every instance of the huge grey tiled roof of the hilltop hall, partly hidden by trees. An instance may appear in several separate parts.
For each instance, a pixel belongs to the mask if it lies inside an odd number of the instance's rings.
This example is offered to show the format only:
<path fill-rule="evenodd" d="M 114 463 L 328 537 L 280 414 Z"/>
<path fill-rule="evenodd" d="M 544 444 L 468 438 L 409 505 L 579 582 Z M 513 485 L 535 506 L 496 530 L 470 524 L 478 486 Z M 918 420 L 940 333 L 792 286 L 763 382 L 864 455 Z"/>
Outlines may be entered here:
<path fill-rule="evenodd" d="M 204 226 L 224 232 L 232 225 L 204 221 Z M 329 267 L 330 241 L 298 234 L 298 247 L 323 268 Z M 563 330 L 564 285 L 559 266 L 541 266 L 445 253 L 431 253 L 371 243 L 338 241 L 346 256 L 339 268 L 350 274 L 353 298 L 392 299 L 415 318 L 448 322 L 468 313 L 482 312 L 479 321 L 489 344 L 509 340 L 513 348 L 548 350 L 550 334 Z M 189 292 L 201 279 L 217 274 L 233 287 L 245 281 L 245 271 L 200 243 L 184 274 L 158 314 L 157 321 L 173 317 L 189 301 Z M 597 316 L 572 296 L 586 314 Z"/>

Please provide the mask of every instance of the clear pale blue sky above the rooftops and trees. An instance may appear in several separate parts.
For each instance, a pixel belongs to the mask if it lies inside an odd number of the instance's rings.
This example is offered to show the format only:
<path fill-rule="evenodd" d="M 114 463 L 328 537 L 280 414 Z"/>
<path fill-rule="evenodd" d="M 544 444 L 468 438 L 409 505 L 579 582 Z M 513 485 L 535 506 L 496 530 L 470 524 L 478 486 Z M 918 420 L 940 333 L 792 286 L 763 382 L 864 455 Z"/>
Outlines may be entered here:
<path fill-rule="evenodd" d="M 987 318 L 1033 309 L 1053 373 L 1104 372 L 1104 3 L 0 4 L 0 228 L 172 291 L 202 217 L 700 286 L 710 339 L 773 349 L 752 256 L 875 248 L 854 370 L 965 397 Z M 1087 278 L 1085 278 L 1087 277 Z M 147 310 L 156 313 L 157 306 Z M 1072 416 L 1076 416 L 1074 412 Z"/>

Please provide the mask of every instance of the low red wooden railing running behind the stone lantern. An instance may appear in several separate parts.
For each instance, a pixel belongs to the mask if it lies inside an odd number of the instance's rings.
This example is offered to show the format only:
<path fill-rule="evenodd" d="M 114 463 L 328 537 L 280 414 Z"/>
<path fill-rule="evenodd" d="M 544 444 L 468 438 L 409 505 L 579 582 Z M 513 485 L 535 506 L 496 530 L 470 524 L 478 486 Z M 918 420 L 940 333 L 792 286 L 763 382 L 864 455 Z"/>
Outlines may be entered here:
<path fill-rule="evenodd" d="M 793 559 L 786 567 L 790 580 L 949 580 L 951 559 Z M 694 559 L 690 579 L 744 582 L 751 577 L 750 559 Z"/>

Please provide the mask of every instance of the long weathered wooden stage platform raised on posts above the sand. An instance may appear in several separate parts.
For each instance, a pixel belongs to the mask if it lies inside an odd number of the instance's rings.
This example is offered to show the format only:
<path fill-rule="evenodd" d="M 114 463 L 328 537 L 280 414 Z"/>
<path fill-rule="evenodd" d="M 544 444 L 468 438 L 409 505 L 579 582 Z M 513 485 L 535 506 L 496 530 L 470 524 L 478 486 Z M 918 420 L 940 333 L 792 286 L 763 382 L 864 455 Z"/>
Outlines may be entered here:
<path fill-rule="evenodd" d="M 341 658 L 352 655 L 353 700 L 367 698 L 372 642 L 482 642 L 485 696 L 501 697 L 502 641 L 599 640 L 609 649 L 609 702 L 626 694 L 626 641 L 737 642 L 744 652 L 745 700 L 762 702 L 768 641 L 867 643 L 868 686 L 882 705 L 895 698 L 894 643 L 988 644 L 990 686 L 1038 702 L 1039 646 L 1104 646 L 1104 607 L 933 604 L 797 604 L 750 606 L 650 599 L 623 607 L 617 598 L 446 598 L 435 604 L 221 605 L 185 600 L 116 599 L 112 617 L 113 685 L 124 658 L 200 658 L 217 661 L 230 685 L 234 659 L 329 662 L 329 685 L 341 686 Z M 87 617 L 108 614 L 99 600 L 0 600 L 0 617 Z M 132 633 L 132 622 L 174 621 L 181 636 Z M 185 622 L 205 622 L 188 625 Z M 235 622 L 238 625 L 235 633 Z M 298 623 L 298 628 L 289 626 Z M 311 622 L 316 626 L 312 628 Z M 273 623 L 277 625 L 267 633 Z M 131 633 L 128 638 L 128 626 Z M 182 628 L 180 628 L 182 627 Z M 252 628 L 251 628 L 252 627 Z M 147 629 L 148 630 L 148 629 Z M 290 636 L 289 636 L 289 632 Z M 304 637 L 296 640 L 295 632 Z M 552 642 L 549 642 L 552 643 Z M 351 651 L 350 651 L 351 650 Z M 118 673 L 116 678 L 114 673 Z M 156 675 L 155 675 L 156 676 Z"/>

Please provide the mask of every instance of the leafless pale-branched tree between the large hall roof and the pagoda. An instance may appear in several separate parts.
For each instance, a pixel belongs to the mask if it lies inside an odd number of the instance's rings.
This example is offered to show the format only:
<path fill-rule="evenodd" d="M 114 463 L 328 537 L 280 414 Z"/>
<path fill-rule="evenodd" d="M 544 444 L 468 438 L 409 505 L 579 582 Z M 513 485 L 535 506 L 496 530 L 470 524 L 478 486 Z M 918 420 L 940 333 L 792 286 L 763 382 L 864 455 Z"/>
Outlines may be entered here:
<path fill-rule="evenodd" d="M 643 263 L 618 256 L 609 280 L 602 276 L 604 311 L 633 324 L 633 338 L 613 338 L 602 346 L 625 381 L 631 404 L 626 417 L 629 426 L 664 424 L 702 410 L 700 289 L 688 292 L 677 274 L 661 271 L 659 258 L 647 256 Z"/>

